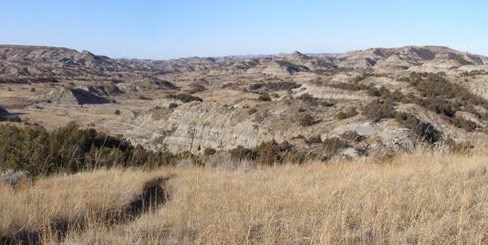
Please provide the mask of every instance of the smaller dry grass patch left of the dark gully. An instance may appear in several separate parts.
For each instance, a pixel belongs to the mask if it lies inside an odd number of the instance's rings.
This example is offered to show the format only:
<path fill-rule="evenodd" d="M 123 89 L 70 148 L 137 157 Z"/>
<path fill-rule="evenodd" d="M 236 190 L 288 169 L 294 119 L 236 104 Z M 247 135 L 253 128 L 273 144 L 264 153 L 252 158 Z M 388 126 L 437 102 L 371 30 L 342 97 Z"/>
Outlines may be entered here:
<path fill-rule="evenodd" d="M 98 170 L 22 183 L 0 184 L 0 238 L 39 233 L 51 239 L 60 225 L 100 223 L 105 214 L 126 207 L 156 173 L 140 170 Z M 37 235 L 33 235 L 37 236 Z M 1 241 L 0 241 L 1 243 Z"/>

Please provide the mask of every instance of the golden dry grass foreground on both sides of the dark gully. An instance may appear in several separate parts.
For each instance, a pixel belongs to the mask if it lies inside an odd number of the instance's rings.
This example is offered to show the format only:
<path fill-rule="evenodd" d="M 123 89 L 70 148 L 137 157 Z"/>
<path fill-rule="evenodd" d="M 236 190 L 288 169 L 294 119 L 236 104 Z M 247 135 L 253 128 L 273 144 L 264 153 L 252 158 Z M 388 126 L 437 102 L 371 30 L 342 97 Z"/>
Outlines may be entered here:
<path fill-rule="evenodd" d="M 50 177 L 22 188 L 0 187 L 0 235 L 18 231 L 30 215 L 28 227 L 44 230 L 38 234 L 43 241 L 66 244 L 484 244 L 487 156 L 419 153 L 381 163 Z M 62 236 L 46 235 L 56 234 L 47 225 L 53 217 L 126 211 L 122 207 L 145 182 L 169 173 L 162 185 L 169 199 L 158 208 L 112 222 L 87 218 Z"/>

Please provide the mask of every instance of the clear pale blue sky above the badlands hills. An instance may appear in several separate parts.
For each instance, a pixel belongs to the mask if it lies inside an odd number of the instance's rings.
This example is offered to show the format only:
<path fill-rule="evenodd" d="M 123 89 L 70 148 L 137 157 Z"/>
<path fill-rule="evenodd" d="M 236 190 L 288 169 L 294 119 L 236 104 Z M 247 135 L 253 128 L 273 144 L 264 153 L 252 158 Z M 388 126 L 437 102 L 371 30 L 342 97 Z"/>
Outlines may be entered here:
<path fill-rule="evenodd" d="M 111 57 L 443 45 L 488 55 L 488 1 L 0 0 L 0 43 Z"/>

